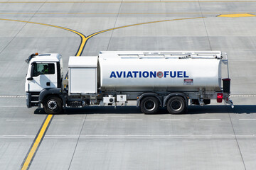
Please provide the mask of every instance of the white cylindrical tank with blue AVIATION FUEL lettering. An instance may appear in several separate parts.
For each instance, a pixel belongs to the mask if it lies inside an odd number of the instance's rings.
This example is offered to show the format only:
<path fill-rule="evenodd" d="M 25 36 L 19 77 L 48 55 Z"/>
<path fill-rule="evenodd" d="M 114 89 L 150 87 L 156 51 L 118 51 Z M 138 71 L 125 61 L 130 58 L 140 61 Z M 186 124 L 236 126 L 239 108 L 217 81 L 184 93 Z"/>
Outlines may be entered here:
<path fill-rule="evenodd" d="M 100 89 L 220 91 L 220 57 L 138 56 L 99 55 Z"/>

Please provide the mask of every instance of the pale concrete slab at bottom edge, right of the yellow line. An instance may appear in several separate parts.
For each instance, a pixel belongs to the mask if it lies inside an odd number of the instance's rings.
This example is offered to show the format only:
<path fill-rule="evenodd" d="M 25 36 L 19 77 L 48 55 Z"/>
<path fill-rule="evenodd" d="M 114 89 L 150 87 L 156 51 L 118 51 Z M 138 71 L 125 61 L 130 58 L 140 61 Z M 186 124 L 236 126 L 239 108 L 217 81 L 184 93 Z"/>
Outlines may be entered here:
<path fill-rule="evenodd" d="M 70 169 L 244 169 L 234 139 L 80 138 Z"/>

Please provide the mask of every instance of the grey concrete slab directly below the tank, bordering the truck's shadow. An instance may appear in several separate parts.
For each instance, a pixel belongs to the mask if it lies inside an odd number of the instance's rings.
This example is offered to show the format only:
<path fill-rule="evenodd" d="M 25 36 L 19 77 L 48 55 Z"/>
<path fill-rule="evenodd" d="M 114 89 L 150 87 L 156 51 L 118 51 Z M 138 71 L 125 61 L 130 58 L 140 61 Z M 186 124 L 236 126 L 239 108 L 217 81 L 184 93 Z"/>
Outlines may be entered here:
<path fill-rule="evenodd" d="M 131 108 L 131 111 L 132 109 L 134 108 Z M 196 108 L 191 109 L 192 112 L 196 111 Z M 121 109 L 120 113 L 122 114 Z M 85 120 L 87 121 L 81 135 L 233 135 L 230 118 L 225 113 L 132 114 L 129 118 L 107 118 L 104 115 L 93 114 L 87 115 Z"/>

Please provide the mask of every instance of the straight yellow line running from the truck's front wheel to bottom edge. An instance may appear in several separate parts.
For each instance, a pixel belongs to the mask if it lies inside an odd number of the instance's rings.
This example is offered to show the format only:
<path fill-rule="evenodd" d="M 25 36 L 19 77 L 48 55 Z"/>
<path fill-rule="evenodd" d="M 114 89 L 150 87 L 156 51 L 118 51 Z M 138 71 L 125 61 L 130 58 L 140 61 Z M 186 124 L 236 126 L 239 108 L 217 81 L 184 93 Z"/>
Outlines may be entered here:
<path fill-rule="evenodd" d="M 48 124 L 50 123 L 50 119 L 53 117 L 53 115 L 48 115 L 46 118 L 45 123 L 43 123 L 43 127 L 41 128 L 38 137 L 36 138 L 36 141 L 33 143 L 33 147 L 31 148 L 31 151 L 28 154 L 28 157 L 26 158 L 26 161 L 24 162 L 21 170 L 25 170 L 28 168 L 28 165 L 31 162 L 31 159 L 33 158 L 33 155 L 36 152 L 36 149 L 38 148 L 39 143 L 41 142 L 43 138 L 43 134 L 46 132 L 46 128 L 48 127 Z"/>

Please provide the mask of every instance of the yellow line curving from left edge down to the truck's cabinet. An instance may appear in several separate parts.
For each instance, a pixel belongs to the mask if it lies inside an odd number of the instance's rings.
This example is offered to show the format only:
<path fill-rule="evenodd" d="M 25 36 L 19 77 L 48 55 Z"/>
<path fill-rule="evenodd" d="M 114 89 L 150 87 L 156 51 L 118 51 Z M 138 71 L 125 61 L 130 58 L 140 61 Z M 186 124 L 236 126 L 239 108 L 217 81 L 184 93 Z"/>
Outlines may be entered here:
<path fill-rule="evenodd" d="M 47 24 L 47 23 L 36 23 L 36 22 L 30 22 L 30 21 L 20 21 L 20 20 L 11 20 L 11 19 L 3 19 L 3 18 L 0 18 L 0 20 L 3 20 L 3 21 L 16 21 L 16 22 L 22 22 L 22 23 L 34 23 L 34 24 L 38 24 L 38 25 L 42 25 L 42 26 L 51 26 L 51 27 L 60 28 L 60 29 L 63 29 L 63 30 L 69 30 L 69 31 L 71 31 L 73 33 L 76 33 L 76 34 L 80 35 L 80 37 L 82 38 L 82 43 L 81 43 L 80 48 L 78 50 L 77 56 L 80 56 L 82 54 L 82 49 L 85 46 L 85 35 L 82 35 L 78 31 L 71 30 L 69 28 L 64 28 L 64 27 L 60 27 L 60 26 L 54 26 L 54 25 L 50 25 L 50 24 Z"/>

